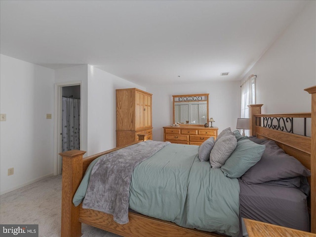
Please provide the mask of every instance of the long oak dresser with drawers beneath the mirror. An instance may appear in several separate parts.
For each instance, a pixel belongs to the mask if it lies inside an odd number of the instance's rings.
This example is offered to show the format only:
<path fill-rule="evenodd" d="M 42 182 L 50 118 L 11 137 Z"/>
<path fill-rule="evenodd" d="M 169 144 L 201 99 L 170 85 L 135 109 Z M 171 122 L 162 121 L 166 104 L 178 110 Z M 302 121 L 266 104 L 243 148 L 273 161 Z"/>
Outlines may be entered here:
<path fill-rule="evenodd" d="M 218 127 L 204 127 L 197 125 L 165 126 L 163 139 L 171 143 L 201 145 L 210 137 L 216 139 Z"/>

